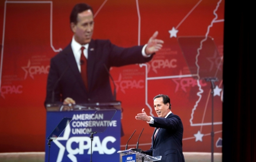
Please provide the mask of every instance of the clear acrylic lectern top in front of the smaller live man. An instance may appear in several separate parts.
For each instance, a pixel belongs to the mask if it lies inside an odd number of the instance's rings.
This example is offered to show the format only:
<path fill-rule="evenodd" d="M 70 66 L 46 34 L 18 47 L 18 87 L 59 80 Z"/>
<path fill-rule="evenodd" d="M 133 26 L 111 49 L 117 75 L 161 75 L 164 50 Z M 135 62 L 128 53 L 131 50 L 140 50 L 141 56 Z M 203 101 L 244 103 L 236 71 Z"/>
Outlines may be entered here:
<path fill-rule="evenodd" d="M 161 160 L 161 158 L 162 158 L 162 156 L 151 157 L 150 155 L 143 154 L 142 152 L 138 152 L 138 151 L 132 150 L 132 148 L 130 148 L 129 150 L 117 151 L 117 153 L 121 154 L 121 155 L 132 155 L 132 154 L 135 154 L 136 155 L 136 159 L 138 160 L 137 162 L 158 161 L 158 160 Z M 123 162 L 125 162 L 125 161 L 123 160 Z"/>

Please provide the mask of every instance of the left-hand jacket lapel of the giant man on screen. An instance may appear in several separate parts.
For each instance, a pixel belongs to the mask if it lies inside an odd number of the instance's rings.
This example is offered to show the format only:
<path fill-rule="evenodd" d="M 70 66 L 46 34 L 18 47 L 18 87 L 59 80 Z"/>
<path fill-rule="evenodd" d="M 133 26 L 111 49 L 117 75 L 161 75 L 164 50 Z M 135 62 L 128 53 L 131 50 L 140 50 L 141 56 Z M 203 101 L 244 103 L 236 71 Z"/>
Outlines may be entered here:
<path fill-rule="evenodd" d="M 81 74 L 79 72 L 79 69 L 77 67 L 75 56 L 73 54 L 73 51 L 71 49 L 70 44 L 68 45 L 68 48 L 65 51 L 65 57 L 64 58 L 65 58 L 67 64 L 69 65 L 69 67 L 71 68 L 71 70 L 73 71 L 73 74 L 75 75 L 74 79 L 76 79 L 78 81 L 78 83 L 80 84 L 80 86 L 83 87 L 83 89 L 86 91 L 86 88 L 85 88 L 84 83 L 83 83 L 82 76 L 81 76 Z"/>

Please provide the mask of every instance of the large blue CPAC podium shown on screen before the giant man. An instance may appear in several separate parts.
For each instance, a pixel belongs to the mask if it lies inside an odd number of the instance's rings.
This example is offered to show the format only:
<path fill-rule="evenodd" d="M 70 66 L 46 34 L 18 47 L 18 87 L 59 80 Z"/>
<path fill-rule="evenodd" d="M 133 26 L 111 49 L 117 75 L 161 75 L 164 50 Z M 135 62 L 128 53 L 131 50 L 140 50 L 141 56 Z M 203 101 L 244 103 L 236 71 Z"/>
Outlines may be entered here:
<path fill-rule="evenodd" d="M 68 108 L 67 108 L 68 106 Z M 67 111 L 64 111 L 67 109 Z M 72 118 L 60 136 L 53 140 L 50 148 L 50 162 L 80 162 L 90 161 L 91 152 L 93 161 L 119 161 L 121 136 L 121 102 L 89 103 L 78 105 L 46 104 L 46 138 L 64 117 Z M 97 110 L 116 110 L 114 117 L 109 119 L 103 114 L 94 115 Z M 92 124 L 91 119 L 98 119 Z M 106 131 L 97 133 L 93 137 L 91 147 L 90 133 L 93 127 L 104 127 Z M 45 139 L 46 139 L 45 138 Z M 47 140 L 45 150 L 48 150 Z M 92 148 L 92 149 L 91 149 Z M 45 161 L 48 161 L 48 152 L 45 152 Z"/>

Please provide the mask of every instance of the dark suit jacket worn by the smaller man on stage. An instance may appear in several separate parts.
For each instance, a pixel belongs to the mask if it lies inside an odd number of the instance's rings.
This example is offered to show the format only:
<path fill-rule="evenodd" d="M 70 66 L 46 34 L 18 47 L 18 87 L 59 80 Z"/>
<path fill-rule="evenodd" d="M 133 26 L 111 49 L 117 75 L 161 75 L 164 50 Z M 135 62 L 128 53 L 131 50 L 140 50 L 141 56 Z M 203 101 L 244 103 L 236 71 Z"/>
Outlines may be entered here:
<path fill-rule="evenodd" d="M 185 162 L 182 153 L 183 125 L 180 117 L 169 114 L 167 118 L 153 117 L 154 124 L 150 127 L 158 128 L 157 136 L 152 136 L 150 150 L 145 151 L 147 155 L 162 156 L 161 162 Z"/>

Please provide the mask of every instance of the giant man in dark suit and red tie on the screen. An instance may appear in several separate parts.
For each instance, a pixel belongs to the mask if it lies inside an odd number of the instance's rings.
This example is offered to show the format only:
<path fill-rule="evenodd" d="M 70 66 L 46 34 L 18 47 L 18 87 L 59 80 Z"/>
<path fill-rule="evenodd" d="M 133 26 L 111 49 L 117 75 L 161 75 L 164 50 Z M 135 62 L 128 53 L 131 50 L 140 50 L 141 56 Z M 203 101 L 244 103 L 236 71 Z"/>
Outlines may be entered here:
<path fill-rule="evenodd" d="M 95 103 L 114 101 L 109 68 L 150 61 L 162 48 L 156 31 L 144 46 L 121 48 L 109 40 L 91 39 L 93 9 L 76 4 L 70 15 L 74 36 L 71 43 L 50 62 L 45 103 Z"/>

